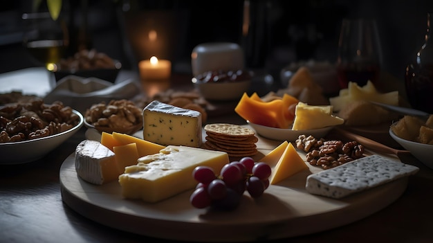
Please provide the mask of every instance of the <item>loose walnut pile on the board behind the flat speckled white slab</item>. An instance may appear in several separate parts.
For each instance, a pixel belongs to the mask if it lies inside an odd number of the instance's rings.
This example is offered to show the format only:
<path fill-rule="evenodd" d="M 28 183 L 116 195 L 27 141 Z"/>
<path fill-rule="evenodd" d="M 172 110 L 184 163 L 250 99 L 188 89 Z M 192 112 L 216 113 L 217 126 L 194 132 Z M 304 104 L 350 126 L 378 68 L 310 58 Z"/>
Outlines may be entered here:
<path fill-rule="evenodd" d="M 338 165 L 362 158 L 365 147 L 357 141 L 343 143 L 339 140 L 325 141 L 313 136 L 300 135 L 296 147 L 306 152 L 306 161 L 327 170 Z"/>

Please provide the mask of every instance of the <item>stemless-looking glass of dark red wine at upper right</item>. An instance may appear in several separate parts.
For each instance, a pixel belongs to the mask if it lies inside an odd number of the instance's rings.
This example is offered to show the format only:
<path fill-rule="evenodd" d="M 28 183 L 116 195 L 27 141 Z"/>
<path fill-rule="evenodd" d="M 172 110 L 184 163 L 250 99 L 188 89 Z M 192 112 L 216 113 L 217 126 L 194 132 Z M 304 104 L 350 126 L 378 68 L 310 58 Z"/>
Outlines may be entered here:
<path fill-rule="evenodd" d="M 338 41 L 337 76 L 341 89 L 349 82 L 378 84 L 382 48 L 374 19 L 343 19 Z"/>

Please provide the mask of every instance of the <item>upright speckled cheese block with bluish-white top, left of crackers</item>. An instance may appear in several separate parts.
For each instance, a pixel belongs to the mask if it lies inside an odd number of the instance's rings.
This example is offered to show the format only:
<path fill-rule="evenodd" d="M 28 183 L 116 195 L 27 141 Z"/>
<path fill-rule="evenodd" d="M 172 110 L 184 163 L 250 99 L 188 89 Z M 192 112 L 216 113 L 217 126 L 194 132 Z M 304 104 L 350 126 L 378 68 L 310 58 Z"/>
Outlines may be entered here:
<path fill-rule="evenodd" d="M 201 113 L 154 100 L 143 109 L 143 138 L 160 145 L 200 147 Z"/>

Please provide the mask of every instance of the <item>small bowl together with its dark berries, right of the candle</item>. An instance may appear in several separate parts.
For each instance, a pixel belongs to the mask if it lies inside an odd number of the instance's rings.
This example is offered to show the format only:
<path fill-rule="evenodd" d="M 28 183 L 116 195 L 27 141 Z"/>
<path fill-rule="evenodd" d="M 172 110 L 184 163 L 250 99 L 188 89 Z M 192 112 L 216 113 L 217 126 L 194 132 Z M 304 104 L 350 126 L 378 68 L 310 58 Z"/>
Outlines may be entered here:
<path fill-rule="evenodd" d="M 252 74 L 248 71 L 208 71 L 191 82 L 206 100 L 237 100 L 247 92 Z"/>

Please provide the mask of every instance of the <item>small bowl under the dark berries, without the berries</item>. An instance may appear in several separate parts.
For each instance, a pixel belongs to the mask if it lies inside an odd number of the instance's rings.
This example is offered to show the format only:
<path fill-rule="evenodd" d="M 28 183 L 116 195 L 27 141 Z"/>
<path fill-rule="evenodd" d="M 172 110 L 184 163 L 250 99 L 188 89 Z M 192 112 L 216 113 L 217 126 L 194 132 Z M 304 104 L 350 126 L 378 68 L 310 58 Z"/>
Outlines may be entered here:
<path fill-rule="evenodd" d="M 193 78 L 194 79 L 194 78 Z M 206 100 L 237 100 L 247 92 L 251 80 L 236 82 L 194 82 L 194 87 L 199 90 Z"/>

